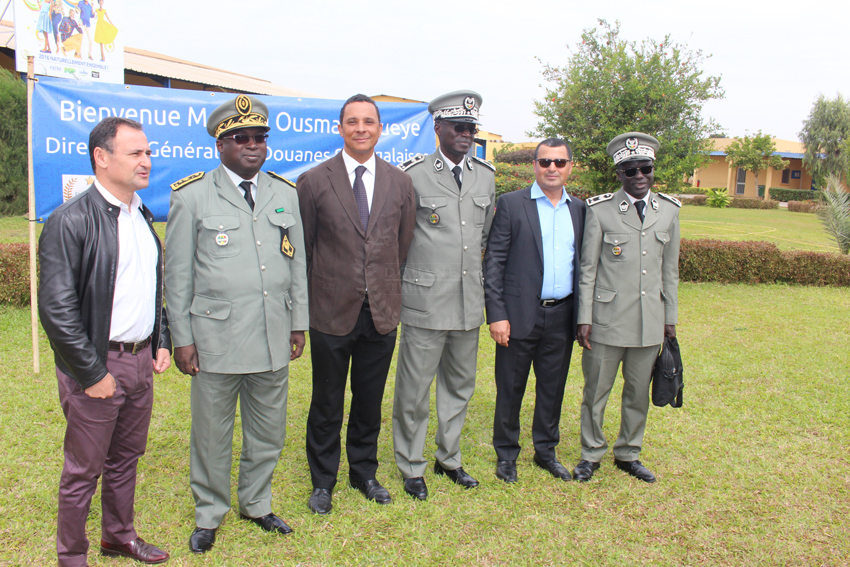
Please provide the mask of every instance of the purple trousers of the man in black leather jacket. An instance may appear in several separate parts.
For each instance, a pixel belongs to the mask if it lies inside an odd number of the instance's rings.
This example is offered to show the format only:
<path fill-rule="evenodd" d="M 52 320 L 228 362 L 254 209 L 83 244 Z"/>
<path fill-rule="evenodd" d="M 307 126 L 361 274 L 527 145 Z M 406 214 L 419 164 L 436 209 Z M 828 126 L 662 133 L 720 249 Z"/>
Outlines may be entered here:
<path fill-rule="evenodd" d="M 135 355 L 110 351 L 106 368 L 115 378 L 115 395 L 108 399 L 90 398 L 76 380 L 56 369 L 59 403 L 68 422 L 56 532 L 62 567 L 87 565 L 86 518 L 101 475 L 102 539 L 115 544 L 136 539 L 136 466 L 145 453 L 153 407 L 151 347 Z"/>

